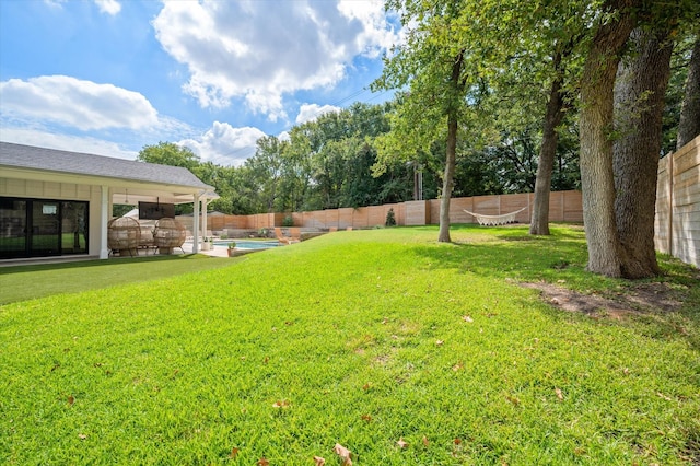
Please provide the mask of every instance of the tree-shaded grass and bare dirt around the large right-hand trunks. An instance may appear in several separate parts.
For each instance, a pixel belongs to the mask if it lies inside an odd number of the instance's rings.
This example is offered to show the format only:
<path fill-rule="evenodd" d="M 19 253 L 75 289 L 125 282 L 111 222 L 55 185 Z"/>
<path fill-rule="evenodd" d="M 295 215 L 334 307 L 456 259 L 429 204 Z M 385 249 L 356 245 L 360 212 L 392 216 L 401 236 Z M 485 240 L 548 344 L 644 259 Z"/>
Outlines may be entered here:
<path fill-rule="evenodd" d="M 660 255 L 664 276 L 646 280 L 612 279 L 585 270 L 581 235 L 529 236 L 499 231 L 491 238 L 420 246 L 430 268 L 457 269 L 538 290 L 552 312 L 580 313 L 625 325 L 643 322 L 658 339 L 682 338 L 700 349 L 700 272 Z"/>

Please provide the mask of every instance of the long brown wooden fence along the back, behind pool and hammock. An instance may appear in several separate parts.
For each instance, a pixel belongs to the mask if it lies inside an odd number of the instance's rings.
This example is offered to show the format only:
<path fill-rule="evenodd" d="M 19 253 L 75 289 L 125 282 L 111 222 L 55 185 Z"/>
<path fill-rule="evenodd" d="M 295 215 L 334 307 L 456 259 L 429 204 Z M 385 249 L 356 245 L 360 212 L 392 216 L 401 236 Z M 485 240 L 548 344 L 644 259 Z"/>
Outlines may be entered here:
<path fill-rule="evenodd" d="M 452 198 L 450 201 L 451 223 L 476 223 L 476 219 L 464 210 L 487 215 L 500 215 L 525 208 L 515 220 L 529 223 L 535 195 L 475 196 Z M 549 198 L 549 220 L 552 222 L 583 222 L 581 193 L 575 190 L 555 191 Z M 384 225 L 389 210 L 394 209 L 397 225 L 428 225 L 440 223 L 440 199 L 412 200 L 400 203 L 385 203 L 342 209 L 315 210 L 292 213 L 259 213 L 255 215 L 207 215 L 207 229 L 212 232 L 229 230 L 260 230 L 281 226 L 291 217 L 294 226 L 310 229 L 345 230 L 347 228 L 368 229 Z M 178 218 L 191 229 L 191 217 Z"/>

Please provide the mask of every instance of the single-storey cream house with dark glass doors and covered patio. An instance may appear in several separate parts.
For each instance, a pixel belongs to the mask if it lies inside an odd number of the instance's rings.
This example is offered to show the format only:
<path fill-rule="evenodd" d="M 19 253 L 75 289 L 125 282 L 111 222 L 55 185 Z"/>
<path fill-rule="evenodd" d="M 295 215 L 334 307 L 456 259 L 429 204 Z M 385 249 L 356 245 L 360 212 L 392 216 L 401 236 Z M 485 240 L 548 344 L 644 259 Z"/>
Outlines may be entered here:
<path fill-rule="evenodd" d="M 9 259 L 106 259 L 114 203 L 194 202 L 194 252 L 200 206 L 214 188 L 187 168 L 0 141 L 0 265 Z M 12 261 L 14 261 L 12 260 Z"/>

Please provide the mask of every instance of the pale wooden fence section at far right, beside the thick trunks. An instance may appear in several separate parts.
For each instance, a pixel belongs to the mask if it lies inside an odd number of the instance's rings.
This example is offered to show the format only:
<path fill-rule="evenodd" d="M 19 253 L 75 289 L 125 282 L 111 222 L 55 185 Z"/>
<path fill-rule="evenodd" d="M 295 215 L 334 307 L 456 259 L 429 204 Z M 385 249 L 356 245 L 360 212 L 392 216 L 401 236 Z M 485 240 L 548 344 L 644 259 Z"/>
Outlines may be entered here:
<path fill-rule="evenodd" d="M 658 161 L 654 246 L 700 267 L 700 136 Z"/>

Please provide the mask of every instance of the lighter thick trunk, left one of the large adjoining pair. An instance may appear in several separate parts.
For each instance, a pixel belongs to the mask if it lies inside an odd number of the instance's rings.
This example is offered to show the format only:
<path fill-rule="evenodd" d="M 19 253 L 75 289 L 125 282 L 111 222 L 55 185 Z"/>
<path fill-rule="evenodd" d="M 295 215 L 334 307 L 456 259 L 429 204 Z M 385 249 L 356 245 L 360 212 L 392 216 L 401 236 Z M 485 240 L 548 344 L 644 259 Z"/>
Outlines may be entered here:
<path fill-rule="evenodd" d="M 612 177 L 612 90 L 621 51 L 634 27 L 631 2 L 606 2 L 618 10 L 616 19 L 600 26 L 586 57 L 581 83 L 581 188 L 583 222 L 588 246 L 588 270 L 621 277 L 622 248 L 615 222 Z"/>

